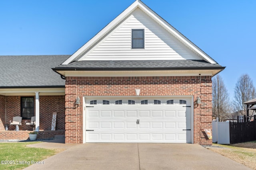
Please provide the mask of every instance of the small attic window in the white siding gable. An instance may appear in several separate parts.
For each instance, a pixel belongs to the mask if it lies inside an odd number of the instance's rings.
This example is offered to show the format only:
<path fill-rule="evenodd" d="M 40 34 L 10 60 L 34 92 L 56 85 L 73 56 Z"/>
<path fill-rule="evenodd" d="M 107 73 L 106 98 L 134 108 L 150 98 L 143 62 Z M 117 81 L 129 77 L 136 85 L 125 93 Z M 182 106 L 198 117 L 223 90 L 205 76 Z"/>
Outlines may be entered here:
<path fill-rule="evenodd" d="M 132 29 L 132 49 L 144 49 L 144 29 Z"/>

